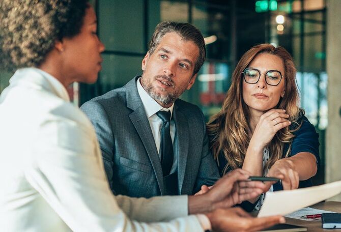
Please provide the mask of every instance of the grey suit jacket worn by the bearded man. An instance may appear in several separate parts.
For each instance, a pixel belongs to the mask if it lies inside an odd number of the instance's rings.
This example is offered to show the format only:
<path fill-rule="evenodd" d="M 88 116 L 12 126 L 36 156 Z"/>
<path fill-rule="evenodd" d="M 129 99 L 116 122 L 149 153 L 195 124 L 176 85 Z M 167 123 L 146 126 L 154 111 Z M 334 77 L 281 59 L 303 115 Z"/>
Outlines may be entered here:
<path fill-rule="evenodd" d="M 93 123 L 114 194 L 152 197 L 164 194 L 161 162 L 136 80 L 81 106 Z M 202 111 L 176 100 L 174 152 L 178 155 L 179 194 L 193 194 L 219 178 L 209 152 Z"/>

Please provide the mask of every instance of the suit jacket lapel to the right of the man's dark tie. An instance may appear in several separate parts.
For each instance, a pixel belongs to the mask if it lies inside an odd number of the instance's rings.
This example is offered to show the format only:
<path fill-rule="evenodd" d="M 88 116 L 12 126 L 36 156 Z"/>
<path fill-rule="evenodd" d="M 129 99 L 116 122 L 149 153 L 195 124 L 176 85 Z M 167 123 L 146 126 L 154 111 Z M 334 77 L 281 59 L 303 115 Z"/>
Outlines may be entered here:
<path fill-rule="evenodd" d="M 189 146 L 189 127 L 186 116 L 178 109 L 177 105 L 174 106 L 174 122 L 176 126 L 177 136 L 177 153 L 178 153 L 178 177 L 179 177 L 179 189 L 182 190 L 182 184 L 184 182 L 188 146 Z"/>

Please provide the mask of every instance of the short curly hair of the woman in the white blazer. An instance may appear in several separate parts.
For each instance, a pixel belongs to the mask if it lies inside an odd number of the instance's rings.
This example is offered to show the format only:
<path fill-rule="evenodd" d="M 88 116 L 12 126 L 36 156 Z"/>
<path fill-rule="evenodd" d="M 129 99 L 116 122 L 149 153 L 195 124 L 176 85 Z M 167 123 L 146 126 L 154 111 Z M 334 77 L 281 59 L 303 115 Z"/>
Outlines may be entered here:
<path fill-rule="evenodd" d="M 87 0 L 1 0 L 0 69 L 38 67 L 54 42 L 80 32 Z"/>

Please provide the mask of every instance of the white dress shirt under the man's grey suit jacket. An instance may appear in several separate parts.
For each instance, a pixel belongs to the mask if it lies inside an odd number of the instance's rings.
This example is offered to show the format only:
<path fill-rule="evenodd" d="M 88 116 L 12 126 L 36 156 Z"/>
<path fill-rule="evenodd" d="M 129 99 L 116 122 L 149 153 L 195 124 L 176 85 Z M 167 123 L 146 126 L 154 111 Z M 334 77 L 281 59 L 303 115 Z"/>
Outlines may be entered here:
<path fill-rule="evenodd" d="M 155 141 L 155 145 L 157 148 L 157 152 L 159 154 L 159 158 L 161 160 L 161 154 L 160 154 L 160 144 L 161 144 L 161 128 L 162 128 L 162 120 L 158 117 L 158 115 L 156 115 L 156 113 L 158 111 L 171 111 L 171 127 L 170 127 L 170 132 L 171 132 L 171 137 L 172 137 L 172 142 L 173 142 L 173 146 L 174 146 L 174 138 L 175 138 L 175 132 L 176 132 L 176 127 L 175 127 L 175 123 L 174 120 L 172 120 L 172 116 L 173 116 L 173 108 L 174 108 L 174 103 L 172 104 L 171 107 L 169 108 L 163 108 L 161 105 L 159 105 L 159 103 L 157 103 L 147 92 L 146 90 L 143 88 L 143 86 L 140 83 L 140 79 L 138 78 L 136 81 L 136 85 L 137 85 L 137 92 L 138 95 L 141 98 L 141 101 L 144 105 L 145 108 L 145 112 L 149 121 L 149 125 L 150 128 L 152 129 L 152 133 L 153 133 L 153 137 L 154 137 L 154 141 Z M 174 154 L 174 158 L 173 158 L 173 165 L 172 165 L 172 169 L 170 173 L 173 173 L 176 171 L 177 166 L 178 166 L 178 157 L 176 155 L 176 150 L 173 147 L 173 154 Z"/>

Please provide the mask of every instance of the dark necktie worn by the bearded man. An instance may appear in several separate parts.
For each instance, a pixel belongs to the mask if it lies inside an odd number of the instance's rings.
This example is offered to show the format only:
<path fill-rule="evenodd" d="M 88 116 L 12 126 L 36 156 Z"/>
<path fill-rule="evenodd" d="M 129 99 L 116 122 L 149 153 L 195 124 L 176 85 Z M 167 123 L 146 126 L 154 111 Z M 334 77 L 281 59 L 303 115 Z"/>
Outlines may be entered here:
<path fill-rule="evenodd" d="M 160 154 L 161 154 L 161 166 L 163 176 L 169 175 L 173 165 L 173 143 L 171 137 L 171 111 L 158 111 L 156 113 L 162 120 L 161 128 L 161 143 L 160 143 Z"/>

